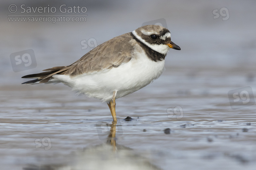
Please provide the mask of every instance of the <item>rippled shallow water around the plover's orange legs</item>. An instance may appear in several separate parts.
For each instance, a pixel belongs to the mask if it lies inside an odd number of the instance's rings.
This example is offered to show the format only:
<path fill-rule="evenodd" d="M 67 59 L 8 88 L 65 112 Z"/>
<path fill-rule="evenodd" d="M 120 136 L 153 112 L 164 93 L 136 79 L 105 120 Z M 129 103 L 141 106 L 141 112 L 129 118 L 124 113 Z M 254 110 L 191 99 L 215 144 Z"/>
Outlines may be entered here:
<path fill-rule="evenodd" d="M 255 106 L 231 109 L 227 92 L 255 89 L 254 82 L 225 79 L 225 71 L 206 75 L 167 68 L 149 86 L 117 99 L 116 147 L 107 142 L 112 116 L 106 103 L 76 96 L 61 84 L 3 86 L 1 166 L 253 169 Z M 181 112 L 172 114 L 171 107 Z M 125 121 L 127 116 L 133 120 Z"/>

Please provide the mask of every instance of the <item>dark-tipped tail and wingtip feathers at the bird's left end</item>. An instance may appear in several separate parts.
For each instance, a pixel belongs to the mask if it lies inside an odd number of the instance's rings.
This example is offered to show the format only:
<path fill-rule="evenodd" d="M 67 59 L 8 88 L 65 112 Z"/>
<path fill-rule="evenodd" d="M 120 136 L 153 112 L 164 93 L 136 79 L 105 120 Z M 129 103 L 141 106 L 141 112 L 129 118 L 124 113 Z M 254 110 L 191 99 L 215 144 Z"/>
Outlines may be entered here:
<path fill-rule="evenodd" d="M 55 74 L 62 74 L 68 69 L 68 66 L 60 66 L 60 67 L 53 67 L 48 68 L 37 74 L 29 74 L 25 75 L 22 78 L 26 79 L 34 79 L 27 82 L 24 82 L 22 84 L 38 84 L 38 83 L 47 83 L 50 79 L 52 79 L 52 76 Z"/>

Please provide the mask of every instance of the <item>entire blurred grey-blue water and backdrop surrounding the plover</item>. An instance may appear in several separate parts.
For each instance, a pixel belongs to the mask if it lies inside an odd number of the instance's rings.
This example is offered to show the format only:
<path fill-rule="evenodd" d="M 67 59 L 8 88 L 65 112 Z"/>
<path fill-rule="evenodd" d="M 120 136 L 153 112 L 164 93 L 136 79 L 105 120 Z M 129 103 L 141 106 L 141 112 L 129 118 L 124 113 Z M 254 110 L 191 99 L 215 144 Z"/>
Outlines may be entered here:
<path fill-rule="evenodd" d="M 162 169 L 254 169 L 255 7 L 254 0 L 1 1 L 2 168 L 35 164 L 37 169 L 37 165 L 64 165 L 75 159 L 72 165 L 79 160 L 83 165 L 87 160 L 86 166 L 91 163 L 91 167 L 111 169 L 113 164 L 102 161 L 117 156 L 108 157 L 112 152 L 106 150 L 86 150 L 83 156 L 76 153 L 78 159 L 70 156 L 77 149 L 105 143 L 110 129 L 103 128 L 103 140 L 96 127 L 101 124 L 106 128 L 104 125 L 112 121 L 107 105 L 76 96 L 60 84 L 21 85 L 27 81 L 21 77 L 70 65 L 115 36 L 145 24 L 160 24 L 170 30 L 181 51 L 169 51 L 166 71 L 158 80 L 118 99 L 122 134 L 117 135 L 117 143 L 133 149 L 121 154 L 124 157 L 119 155 L 120 166 L 144 162 L 138 157 L 142 155 L 147 165 Z M 64 15 L 68 20 L 77 17 L 77 21 L 64 20 Z M 28 17 L 34 21 L 21 21 Z M 35 21 L 40 17 L 48 21 Z M 53 21 L 57 17 L 62 21 Z M 86 21 L 80 21 L 84 17 Z M 249 105 L 232 108 L 228 92 L 247 86 Z M 181 115 L 180 110 L 180 117 L 173 111 L 177 106 L 184 111 Z M 126 116 L 136 120 L 126 122 Z M 166 128 L 171 129 L 169 136 L 168 130 L 167 134 L 163 131 Z M 43 138 L 48 146 L 51 139 L 49 150 L 37 148 Z"/>

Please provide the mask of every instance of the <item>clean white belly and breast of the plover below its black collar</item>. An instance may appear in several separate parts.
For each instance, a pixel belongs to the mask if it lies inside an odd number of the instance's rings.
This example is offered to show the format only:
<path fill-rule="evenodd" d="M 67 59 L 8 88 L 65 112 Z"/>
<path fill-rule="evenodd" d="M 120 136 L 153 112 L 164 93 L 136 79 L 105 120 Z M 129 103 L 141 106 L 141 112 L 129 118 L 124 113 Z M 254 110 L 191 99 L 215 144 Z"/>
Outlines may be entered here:
<path fill-rule="evenodd" d="M 114 90 L 117 91 L 116 99 L 123 97 L 150 84 L 164 71 L 164 60 L 154 62 L 145 54 L 138 54 L 128 63 L 112 69 L 71 78 L 68 75 L 54 75 L 53 78 L 88 97 L 110 101 Z"/>

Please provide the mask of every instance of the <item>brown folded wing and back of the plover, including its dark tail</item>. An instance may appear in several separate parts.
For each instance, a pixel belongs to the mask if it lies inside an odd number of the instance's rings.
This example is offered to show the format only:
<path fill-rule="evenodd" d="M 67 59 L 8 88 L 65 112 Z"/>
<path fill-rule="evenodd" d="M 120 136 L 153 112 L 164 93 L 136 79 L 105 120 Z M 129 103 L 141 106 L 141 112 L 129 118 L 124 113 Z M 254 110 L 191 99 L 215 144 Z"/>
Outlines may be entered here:
<path fill-rule="evenodd" d="M 46 83 L 55 74 L 75 76 L 118 67 L 120 64 L 131 60 L 133 45 L 130 42 L 132 38 L 130 34 L 126 33 L 106 41 L 69 66 L 45 69 L 43 71 L 46 72 L 25 75 L 22 78 L 37 78 L 25 82 L 25 84 Z"/>

